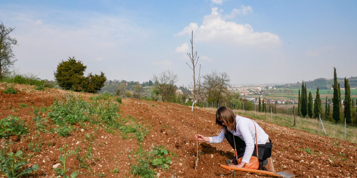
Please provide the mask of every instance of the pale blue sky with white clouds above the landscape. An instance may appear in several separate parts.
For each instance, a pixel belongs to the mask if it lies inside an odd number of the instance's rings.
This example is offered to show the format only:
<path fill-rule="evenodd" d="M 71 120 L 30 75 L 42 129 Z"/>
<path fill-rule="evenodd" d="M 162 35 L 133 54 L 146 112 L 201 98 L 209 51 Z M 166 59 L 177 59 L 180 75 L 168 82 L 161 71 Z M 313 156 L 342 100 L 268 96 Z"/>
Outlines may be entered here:
<path fill-rule="evenodd" d="M 201 75 L 227 72 L 232 84 L 291 83 L 356 76 L 357 1 L 10 1 L 0 20 L 21 73 L 53 79 L 75 56 L 87 72 L 148 81 L 165 70 L 192 80 L 193 47 Z"/>

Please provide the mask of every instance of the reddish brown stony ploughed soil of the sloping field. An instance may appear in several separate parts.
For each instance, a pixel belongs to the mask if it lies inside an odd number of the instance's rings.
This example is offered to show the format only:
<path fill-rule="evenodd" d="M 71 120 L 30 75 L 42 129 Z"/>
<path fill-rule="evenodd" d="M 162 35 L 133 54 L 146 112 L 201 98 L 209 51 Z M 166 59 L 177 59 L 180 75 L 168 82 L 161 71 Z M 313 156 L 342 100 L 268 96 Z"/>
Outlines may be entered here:
<path fill-rule="evenodd" d="M 71 136 L 63 138 L 56 133 L 42 133 L 34 129 L 32 117 L 34 110 L 32 106 L 41 108 L 50 106 L 55 98 L 68 91 L 57 89 L 46 89 L 42 91 L 34 90 L 34 87 L 27 85 L 14 85 L 19 93 L 4 94 L 4 84 L 0 83 L 0 119 L 9 115 L 18 116 L 26 122 L 30 133 L 25 137 L 13 139 L 10 149 L 16 152 L 22 150 L 31 153 L 28 143 L 38 142 L 43 139 L 41 152 L 35 152 L 34 157 L 29 159 L 30 164 L 39 164 L 39 171 L 34 177 L 56 177 L 52 166 L 59 163 L 59 148 L 69 145 L 68 150 L 75 150 L 79 146 L 85 153 L 88 140 L 85 134 L 92 134 L 95 137 L 93 146 L 93 156 L 87 163 L 90 169 L 79 168 L 79 161 L 75 156 L 69 157 L 66 167 L 70 168 L 69 173 L 79 171 L 79 177 L 98 177 L 100 173 L 105 173 L 106 177 L 133 177 L 130 171 L 134 159 L 129 160 L 128 153 L 139 148 L 138 141 L 134 138 L 123 140 L 116 133 L 107 133 L 101 126 L 77 125 L 79 129 Z M 84 98 L 89 98 L 92 94 L 78 93 Z M 30 107 L 20 108 L 24 103 Z M 198 163 L 197 171 L 193 168 L 196 154 L 195 116 L 191 112 L 191 107 L 174 103 L 163 103 L 155 101 L 145 101 L 137 99 L 123 99 L 120 109 L 123 116 L 131 115 L 137 118 L 146 127 L 149 127 L 149 135 L 141 143 L 145 150 L 151 150 L 152 145 L 165 145 L 171 153 L 176 153 L 177 157 L 171 156 L 172 163 L 167 171 L 156 169 L 158 177 L 232 177 L 232 173 L 221 169 L 219 164 L 225 164 L 225 159 L 232 158 L 232 148 L 227 141 L 218 144 L 200 142 L 201 159 Z M 46 113 L 42 113 L 46 116 Z M 204 136 L 216 136 L 220 132 L 215 126 L 215 110 L 197 109 L 198 132 Z M 357 177 L 357 144 L 342 140 L 336 140 L 325 136 L 298 131 L 255 120 L 268 133 L 273 140 L 274 166 L 276 172 L 284 170 L 293 171 L 299 174 L 300 178 L 305 177 Z M 84 129 L 84 130 L 80 130 Z M 36 136 L 37 135 L 37 136 Z M 38 136 L 39 135 L 39 136 Z M 2 139 L 0 146 L 5 147 Z M 308 148 L 312 154 L 308 154 Z M 119 169 L 119 174 L 111 173 L 114 168 Z M 91 176 L 89 176 L 90 174 Z M 261 174 L 237 172 L 237 177 L 268 177 Z M 1 175 L 1 173 L 0 173 Z M 96 176 L 95 176 L 96 175 Z"/>

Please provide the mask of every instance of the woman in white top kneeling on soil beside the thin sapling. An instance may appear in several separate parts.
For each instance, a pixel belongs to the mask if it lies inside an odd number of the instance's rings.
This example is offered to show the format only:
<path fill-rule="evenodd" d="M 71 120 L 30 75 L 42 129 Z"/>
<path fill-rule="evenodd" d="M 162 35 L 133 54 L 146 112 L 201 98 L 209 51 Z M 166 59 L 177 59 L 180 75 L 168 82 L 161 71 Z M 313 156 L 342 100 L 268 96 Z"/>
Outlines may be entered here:
<path fill-rule="evenodd" d="M 235 115 L 230 108 L 222 106 L 216 112 L 216 124 L 222 128 L 218 136 L 205 137 L 196 134 L 196 139 L 209 143 L 220 143 L 226 138 L 233 148 L 236 145 L 238 158 L 243 157 L 240 164 L 237 163 L 235 158 L 232 161 L 227 160 L 227 163 L 233 162 L 236 164 L 235 167 L 244 167 L 246 163 L 249 163 L 251 156 L 256 156 L 255 135 L 257 135 L 259 167 L 274 172 L 271 158 L 273 143 L 268 134 L 255 121 Z M 255 134 L 255 130 L 257 134 Z"/>

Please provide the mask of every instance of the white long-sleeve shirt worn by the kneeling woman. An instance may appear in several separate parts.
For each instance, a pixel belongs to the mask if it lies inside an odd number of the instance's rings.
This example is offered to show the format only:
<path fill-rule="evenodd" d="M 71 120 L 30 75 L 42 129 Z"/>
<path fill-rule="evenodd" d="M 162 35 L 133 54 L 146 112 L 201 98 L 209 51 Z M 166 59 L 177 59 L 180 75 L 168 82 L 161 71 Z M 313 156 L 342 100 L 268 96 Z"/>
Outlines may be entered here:
<path fill-rule="evenodd" d="M 246 143 L 246 149 L 243 155 L 242 161 L 245 163 L 249 163 L 250 157 L 254 151 L 255 141 L 255 128 L 254 124 L 257 128 L 257 141 L 258 144 L 265 144 L 269 138 L 268 134 L 260 127 L 255 121 L 248 119 L 242 116 L 236 116 L 236 131 L 231 131 L 233 135 L 238 136 Z M 220 143 L 225 139 L 224 130 L 222 129 L 221 133 L 216 137 L 209 137 L 209 143 Z"/>

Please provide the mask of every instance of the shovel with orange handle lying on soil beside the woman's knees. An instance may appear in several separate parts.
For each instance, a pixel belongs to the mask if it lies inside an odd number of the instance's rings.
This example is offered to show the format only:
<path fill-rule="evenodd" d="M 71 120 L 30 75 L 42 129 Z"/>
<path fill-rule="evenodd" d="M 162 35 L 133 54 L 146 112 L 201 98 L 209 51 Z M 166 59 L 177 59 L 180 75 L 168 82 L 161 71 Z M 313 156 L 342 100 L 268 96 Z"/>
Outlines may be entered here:
<path fill-rule="evenodd" d="M 244 171 L 244 172 L 260 173 L 260 174 L 266 174 L 266 175 L 270 175 L 270 176 L 283 177 L 283 178 L 292 178 L 292 177 L 298 176 L 298 175 L 295 175 L 291 171 L 270 172 L 270 171 L 262 171 L 262 170 L 258 170 L 258 169 L 247 169 L 247 168 L 225 166 L 223 164 L 221 164 L 220 167 L 223 169 L 227 169 L 228 171 Z"/>

